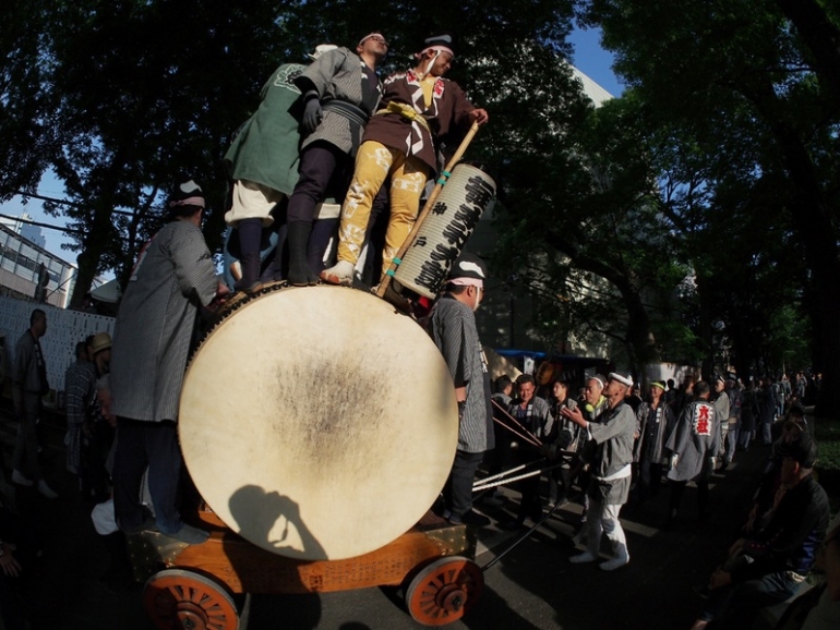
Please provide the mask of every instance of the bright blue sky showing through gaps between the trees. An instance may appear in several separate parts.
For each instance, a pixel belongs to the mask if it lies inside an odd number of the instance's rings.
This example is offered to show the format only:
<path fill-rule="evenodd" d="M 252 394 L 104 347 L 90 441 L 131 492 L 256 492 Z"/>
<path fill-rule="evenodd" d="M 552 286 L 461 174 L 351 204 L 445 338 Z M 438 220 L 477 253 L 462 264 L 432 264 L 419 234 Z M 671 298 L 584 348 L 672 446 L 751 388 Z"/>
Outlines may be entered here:
<path fill-rule="evenodd" d="M 624 85 L 619 82 L 612 71 L 612 53 L 601 48 L 600 29 L 575 29 L 569 36 L 569 41 L 575 48 L 572 63 L 611 95 L 621 96 Z M 47 173 L 38 186 L 38 192 L 44 196 L 61 198 L 63 186 L 52 173 Z M 36 221 L 63 227 L 63 221 L 60 218 L 50 217 L 44 213 L 41 203 L 37 199 L 31 199 L 28 204 L 24 205 L 20 197 L 15 197 L 5 204 L 0 204 L 0 214 L 2 215 L 16 217 L 23 211 L 27 211 Z M 41 233 L 47 240 L 47 251 L 75 263 L 74 253 L 61 250 L 61 244 L 69 243 L 70 240 L 60 230 L 41 228 Z"/>

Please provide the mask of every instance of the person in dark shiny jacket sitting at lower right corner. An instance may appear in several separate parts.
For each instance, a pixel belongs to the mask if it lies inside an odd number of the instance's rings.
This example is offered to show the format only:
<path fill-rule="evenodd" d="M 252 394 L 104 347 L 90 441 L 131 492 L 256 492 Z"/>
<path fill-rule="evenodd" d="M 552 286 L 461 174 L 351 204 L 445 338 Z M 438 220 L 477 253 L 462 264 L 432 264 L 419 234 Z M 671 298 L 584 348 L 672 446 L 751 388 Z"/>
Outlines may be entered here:
<path fill-rule="evenodd" d="M 758 611 L 791 597 L 816 559 L 828 526 L 828 496 L 813 476 L 817 446 L 809 433 L 781 445 L 782 485 L 767 524 L 729 549 L 716 570 L 706 609 L 692 626 L 751 628 Z"/>

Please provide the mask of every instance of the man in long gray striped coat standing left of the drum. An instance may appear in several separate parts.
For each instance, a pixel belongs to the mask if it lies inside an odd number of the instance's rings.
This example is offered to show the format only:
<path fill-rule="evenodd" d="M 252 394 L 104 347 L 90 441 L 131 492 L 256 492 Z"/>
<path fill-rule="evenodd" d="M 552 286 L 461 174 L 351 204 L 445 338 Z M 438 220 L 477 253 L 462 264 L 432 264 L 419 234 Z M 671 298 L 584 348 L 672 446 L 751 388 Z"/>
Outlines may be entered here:
<path fill-rule="evenodd" d="M 204 195 L 197 184 L 181 184 L 168 209 L 170 222 L 141 252 L 117 314 L 110 374 L 118 432 L 113 507 L 124 532 L 148 525 L 140 506 L 148 467 L 157 528 L 195 544 L 207 534 L 181 521 L 176 421 L 196 312 L 228 289 L 216 277 L 201 232 Z"/>

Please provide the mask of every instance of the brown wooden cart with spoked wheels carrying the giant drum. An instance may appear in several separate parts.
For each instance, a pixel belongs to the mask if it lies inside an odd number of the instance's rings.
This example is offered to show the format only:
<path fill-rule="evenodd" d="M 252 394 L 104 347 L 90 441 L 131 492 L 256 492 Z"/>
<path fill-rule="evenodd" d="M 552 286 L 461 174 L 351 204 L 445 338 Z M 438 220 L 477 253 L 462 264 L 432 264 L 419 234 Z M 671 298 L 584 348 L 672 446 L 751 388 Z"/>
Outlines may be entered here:
<path fill-rule="evenodd" d="M 199 513 L 206 543 L 187 545 L 158 532 L 129 537 L 143 602 L 160 630 L 236 630 L 236 594 L 304 594 L 401 586 L 408 613 L 424 626 L 460 619 L 481 594 L 475 536 L 428 512 L 384 547 L 344 560 L 297 560 L 272 554 Z"/>

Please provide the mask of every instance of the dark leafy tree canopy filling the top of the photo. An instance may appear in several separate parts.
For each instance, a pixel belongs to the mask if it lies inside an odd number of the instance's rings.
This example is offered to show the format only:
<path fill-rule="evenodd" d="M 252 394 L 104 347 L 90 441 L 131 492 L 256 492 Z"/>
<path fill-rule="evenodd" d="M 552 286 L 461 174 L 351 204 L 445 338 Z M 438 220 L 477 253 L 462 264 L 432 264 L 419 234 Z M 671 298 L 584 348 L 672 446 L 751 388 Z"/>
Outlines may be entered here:
<path fill-rule="evenodd" d="M 564 61 L 573 19 L 629 86 L 596 108 Z M 499 186 L 494 266 L 544 339 L 657 360 L 824 375 L 840 409 L 840 12 L 823 0 L 10 0 L 0 35 L 0 198 L 52 169 L 76 230 L 72 305 L 124 276 L 191 177 L 224 230 L 229 140 L 280 63 L 373 29 L 409 66 L 458 35 L 451 77 L 489 110 L 470 148 Z M 811 343 L 809 343 L 811 342 Z"/>

